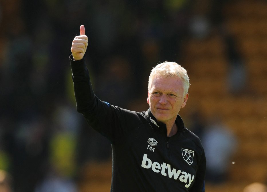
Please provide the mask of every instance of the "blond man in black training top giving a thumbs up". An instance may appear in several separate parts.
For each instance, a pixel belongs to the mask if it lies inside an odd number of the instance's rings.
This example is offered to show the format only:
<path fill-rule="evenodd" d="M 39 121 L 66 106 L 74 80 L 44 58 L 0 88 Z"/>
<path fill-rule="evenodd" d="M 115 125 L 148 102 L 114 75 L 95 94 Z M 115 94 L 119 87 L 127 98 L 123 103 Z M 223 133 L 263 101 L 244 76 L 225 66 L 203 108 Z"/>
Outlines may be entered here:
<path fill-rule="evenodd" d="M 186 70 L 174 62 L 157 65 L 148 83 L 150 108 L 129 111 L 94 95 L 84 58 L 87 45 L 81 25 L 70 56 L 77 111 L 111 141 L 111 191 L 205 191 L 203 147 L 178 115 L 188 99 Z"/>

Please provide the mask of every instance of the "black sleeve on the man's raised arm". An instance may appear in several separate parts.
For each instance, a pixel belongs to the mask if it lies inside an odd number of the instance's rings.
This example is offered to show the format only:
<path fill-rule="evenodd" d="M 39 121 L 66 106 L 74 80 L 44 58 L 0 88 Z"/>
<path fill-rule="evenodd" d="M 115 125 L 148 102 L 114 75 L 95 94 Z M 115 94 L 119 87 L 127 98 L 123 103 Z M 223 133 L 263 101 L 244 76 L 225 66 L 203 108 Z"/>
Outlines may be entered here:
<path fill-rule="evenodd" d="M 70 65 L 77 111 L 83 114 L 93 129 L 107 137 L 111 142 L 114 143 L 123 138 L 126 128 L 129 127 L 127 119 L 129 119 L 130 112 L 103 102 L 95 96 L 85 57 L 74 61 L 71 55 Z"/>

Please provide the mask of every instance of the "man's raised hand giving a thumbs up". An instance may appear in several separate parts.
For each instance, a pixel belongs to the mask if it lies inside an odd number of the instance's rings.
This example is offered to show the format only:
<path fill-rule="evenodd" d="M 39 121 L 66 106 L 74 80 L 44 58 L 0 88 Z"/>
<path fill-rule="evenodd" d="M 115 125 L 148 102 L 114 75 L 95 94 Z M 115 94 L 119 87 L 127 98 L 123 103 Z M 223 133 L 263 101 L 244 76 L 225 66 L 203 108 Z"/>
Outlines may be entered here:
<path fill-rule="evenodd" d="M 73 56 L 73 59 L 81 60 L 86 52 L 88 45 L 88 37 L 85 35 L 85 27 L 84 25 L 81 25 L 80 27 L 80 35 L 76 36 L 71 45 L 71 53 Z"/>

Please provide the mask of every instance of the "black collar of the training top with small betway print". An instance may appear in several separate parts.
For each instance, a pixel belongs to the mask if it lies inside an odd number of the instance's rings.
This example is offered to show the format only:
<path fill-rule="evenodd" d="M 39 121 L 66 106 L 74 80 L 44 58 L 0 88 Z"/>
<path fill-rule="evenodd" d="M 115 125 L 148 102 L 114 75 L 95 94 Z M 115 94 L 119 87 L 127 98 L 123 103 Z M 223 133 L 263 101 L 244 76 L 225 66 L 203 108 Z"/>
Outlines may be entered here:
<path fill-rule="evenodd" d="M 155 117 L 154 115 L 152 114 L 150 108 L 147 110 L 146 112 L 146 118 L 149 122 L 149 124 L 152 126 L 153 129 L 155 130 L 159 130 L 159 131 L 165 131 L 166 130 L 166 124 L 162 123 L 162 122 L 159 122 Z M 178 114 L 177 115 L 177 118 L 175 120 L 175 124 L 177 125 L 178 127 L 178 130 L 177 132 L 180 132 L 182 130 L 185 129 L 184 127 L 184 122 L 182 120 L 182 118 L 180 117 L 180 115 Z"/>

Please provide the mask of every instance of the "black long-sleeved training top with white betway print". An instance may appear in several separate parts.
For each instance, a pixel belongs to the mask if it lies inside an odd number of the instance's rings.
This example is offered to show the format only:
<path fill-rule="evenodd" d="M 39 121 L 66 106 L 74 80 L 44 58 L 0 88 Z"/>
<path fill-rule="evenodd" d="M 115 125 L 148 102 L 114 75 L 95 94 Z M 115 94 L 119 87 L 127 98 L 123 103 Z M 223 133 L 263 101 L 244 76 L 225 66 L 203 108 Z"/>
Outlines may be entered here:
<path fill-rule="evenodd" d="M 206 158 L 201 141 L 178 115 L 175 135 L 150 109 L 135 112 L 94 95 L 85 58 L 70 57 L 77 111 L 112 144 L 111 191 L 204 192 Z"/>

